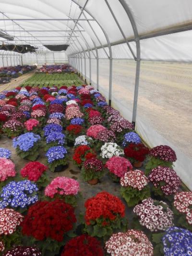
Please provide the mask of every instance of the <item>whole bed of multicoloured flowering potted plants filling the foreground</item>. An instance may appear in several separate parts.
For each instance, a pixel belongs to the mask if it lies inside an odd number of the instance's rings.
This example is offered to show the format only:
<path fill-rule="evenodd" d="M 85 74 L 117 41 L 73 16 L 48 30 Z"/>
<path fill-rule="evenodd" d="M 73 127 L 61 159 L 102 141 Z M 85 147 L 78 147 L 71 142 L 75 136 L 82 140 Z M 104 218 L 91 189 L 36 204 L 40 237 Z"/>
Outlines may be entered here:
<path fill-rule="evenodd" d="M 3 255 L 191 255 L 192 192 L 180 188 L 172 148 L 147 148 L 91 85 L 18 87 L 0 93 L 0 106 L 2 133 L 29 160 L 15 171 L 11 151 L 0 148 Z M 46 165 L 36 161 L 40 149 Z M 81 225 L 80 183 L 48 175 L 70 158 L 91 190 L 108 176 L 121 195 L 88 198 Z"/>

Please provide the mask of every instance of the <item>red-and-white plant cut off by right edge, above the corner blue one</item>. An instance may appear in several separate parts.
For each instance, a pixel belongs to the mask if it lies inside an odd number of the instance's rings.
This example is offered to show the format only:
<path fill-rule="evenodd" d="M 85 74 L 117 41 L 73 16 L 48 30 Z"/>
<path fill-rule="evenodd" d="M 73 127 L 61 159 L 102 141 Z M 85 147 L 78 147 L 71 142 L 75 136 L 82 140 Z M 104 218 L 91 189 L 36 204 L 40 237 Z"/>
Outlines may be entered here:
<path fill-rule="evenodd" d="M 192 192 L 179 192 L 174 196 L 173 212 L 176 225 L 192 231 Z"/>

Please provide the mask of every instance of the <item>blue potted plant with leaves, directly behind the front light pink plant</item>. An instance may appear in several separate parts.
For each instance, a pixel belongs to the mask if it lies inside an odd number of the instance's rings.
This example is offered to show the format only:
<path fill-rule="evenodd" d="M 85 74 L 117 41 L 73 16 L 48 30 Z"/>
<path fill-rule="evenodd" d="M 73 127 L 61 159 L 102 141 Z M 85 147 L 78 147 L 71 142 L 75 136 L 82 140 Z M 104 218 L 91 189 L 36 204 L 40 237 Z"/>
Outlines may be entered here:
<path fill-rule="evenodd" d="M 64 146 L 52 146 L 46 155 L 50 171 L 64 171 L 68 167 L 67 149 Z"/>

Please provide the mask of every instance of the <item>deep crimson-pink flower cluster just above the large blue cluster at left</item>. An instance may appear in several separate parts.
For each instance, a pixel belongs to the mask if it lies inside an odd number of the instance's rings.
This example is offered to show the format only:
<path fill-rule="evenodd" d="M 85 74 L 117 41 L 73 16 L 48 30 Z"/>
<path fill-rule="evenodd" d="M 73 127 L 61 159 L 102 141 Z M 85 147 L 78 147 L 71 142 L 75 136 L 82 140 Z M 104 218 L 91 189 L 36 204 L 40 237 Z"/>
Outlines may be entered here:
<path fill-rule="evenodd" d="M 39 163 L 37 161 L 35 162 L 28 162 L 24 168 L 21 170 L 21 176 L 27 177 L 29 181 L 38 181 L 38 179 L 41 177 L 42 173 L 48 169 L 47 166 L 45 166 L 42 163 Z"/>

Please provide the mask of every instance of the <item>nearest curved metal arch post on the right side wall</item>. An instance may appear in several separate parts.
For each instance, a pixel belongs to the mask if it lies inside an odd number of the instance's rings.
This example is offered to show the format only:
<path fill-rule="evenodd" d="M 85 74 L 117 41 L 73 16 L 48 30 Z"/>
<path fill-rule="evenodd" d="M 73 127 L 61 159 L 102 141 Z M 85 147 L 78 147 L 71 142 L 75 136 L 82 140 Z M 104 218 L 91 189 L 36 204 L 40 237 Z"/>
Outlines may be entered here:
<path fill-rule="evenodd" d="M 132 123 L 135 127 L 136 113 L 137 113 L 137 100 L 139 91 L 139 75 L 140 75 L 140 64 L 141 64 L 141 48 L 140 48 L 140 38 L 137 30 L 137 25 L 133 18 L 132 12 L 129 6 L 126 4 L 125 0 L 119 0 L 125 12 L 127 13 L 129 20 L 132 24 L 132 30 L 134 33 L 134 41 L 136 43 L 136 73 L 135 73 L 135 89 L 134 89 L 134 100 L 133 100 L 133 110 L 132 110 Z"/>

